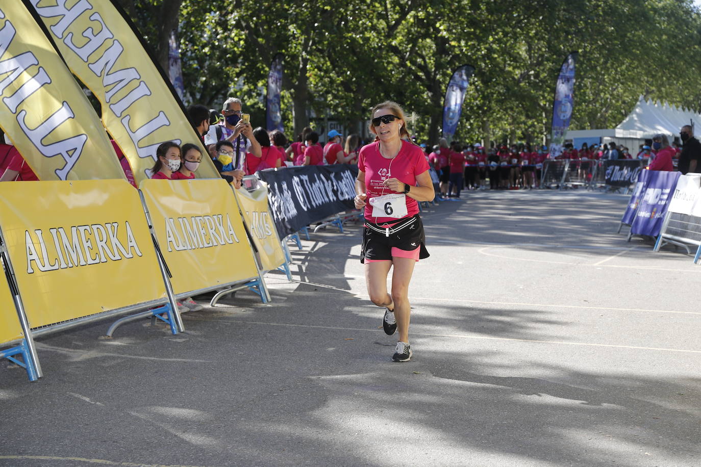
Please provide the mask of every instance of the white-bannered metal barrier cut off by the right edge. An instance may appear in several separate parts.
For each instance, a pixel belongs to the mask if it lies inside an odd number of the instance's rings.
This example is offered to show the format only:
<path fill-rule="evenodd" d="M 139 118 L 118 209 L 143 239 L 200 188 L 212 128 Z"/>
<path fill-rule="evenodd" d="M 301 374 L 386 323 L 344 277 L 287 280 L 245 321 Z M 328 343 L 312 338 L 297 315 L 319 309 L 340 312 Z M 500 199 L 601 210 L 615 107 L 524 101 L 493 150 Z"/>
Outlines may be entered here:
<path fill-rule="evenodd" d="M 697 263 L 701 254 L 701 174 L 679 176 L 671 198 L 654 251 L 674 244 L 691 253 L 688 245 L 696 245 Z"/>

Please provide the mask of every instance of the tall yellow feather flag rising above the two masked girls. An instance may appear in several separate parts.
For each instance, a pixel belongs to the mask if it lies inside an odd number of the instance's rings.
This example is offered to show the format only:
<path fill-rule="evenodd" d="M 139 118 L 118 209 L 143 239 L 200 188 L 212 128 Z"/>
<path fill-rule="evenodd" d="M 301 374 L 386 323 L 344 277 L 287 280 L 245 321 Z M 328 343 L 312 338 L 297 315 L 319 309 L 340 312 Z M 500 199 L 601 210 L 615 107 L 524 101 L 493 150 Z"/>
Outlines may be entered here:
<path fill-rule="evenodd" d="M 73 73 L 102 104 L 137 183 L 149 178 L 164 141 L 198 144 L 201 179 L 219 178 L 182 107 L 139 38 L 109 0 L 29 0 Z"/>

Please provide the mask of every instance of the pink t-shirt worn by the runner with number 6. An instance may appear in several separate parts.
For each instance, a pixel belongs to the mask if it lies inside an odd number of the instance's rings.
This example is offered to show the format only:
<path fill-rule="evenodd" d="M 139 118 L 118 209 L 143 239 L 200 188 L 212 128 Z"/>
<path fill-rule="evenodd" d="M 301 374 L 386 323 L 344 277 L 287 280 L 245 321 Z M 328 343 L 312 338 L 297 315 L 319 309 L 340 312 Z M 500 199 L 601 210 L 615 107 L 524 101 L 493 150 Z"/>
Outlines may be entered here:
<path fill-rule="evenodd" d="M 365 192 L 367 204 L 365 204 L 365 219 L 373 223 L 396 222 L 393 217 L 372 216 L 372 206 L 369 199 L 382 195 L 396 193 L 383 186 L 386 179 L 398 179 L 403 183 L 416 186 L 416 176 L 428 170 L 428 162 L 423 150 L 419 146 L 404 141 L 397 157 L 393 159 L 383 158 L 379 151 L 379 141 L 363 146 L 358 155 L 358 170 L 365 172 Z M 418 203 L 414 198 L 407 196 L 407 216 L 418 214 Z"/>

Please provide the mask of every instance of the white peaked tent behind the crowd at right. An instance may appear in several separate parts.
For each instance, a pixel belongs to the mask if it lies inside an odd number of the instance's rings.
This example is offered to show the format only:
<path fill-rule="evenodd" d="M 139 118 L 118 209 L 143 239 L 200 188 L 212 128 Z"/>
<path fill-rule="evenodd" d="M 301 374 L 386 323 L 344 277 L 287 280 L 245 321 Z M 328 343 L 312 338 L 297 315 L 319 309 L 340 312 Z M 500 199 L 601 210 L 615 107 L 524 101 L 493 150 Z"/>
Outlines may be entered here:
<path fill-rule="evenodd" d="M 598 137 L 602 143 L 614 141 L 623 144 L 635 155 L 637 147 L 654 134 L 667 134 L 672 142 L 683 125 L 696 126 L 697 123 L 701 123 L 700 113 L 670 106 L 667 102 L 646 101 L 641 96 L 635 109 L 617 127 L 610 130 L 571 130 L 567 132 L 567 139 L 591 140 Z"/>

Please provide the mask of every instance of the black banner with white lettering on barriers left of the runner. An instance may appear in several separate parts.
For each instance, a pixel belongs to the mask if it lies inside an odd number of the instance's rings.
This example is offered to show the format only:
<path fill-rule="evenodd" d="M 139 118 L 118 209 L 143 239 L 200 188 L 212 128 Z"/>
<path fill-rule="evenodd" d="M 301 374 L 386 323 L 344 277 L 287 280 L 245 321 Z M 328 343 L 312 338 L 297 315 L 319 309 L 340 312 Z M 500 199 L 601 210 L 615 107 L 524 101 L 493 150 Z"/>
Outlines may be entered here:
<path fill-rule="evenodd" d="M 355 209 L 357 165 L 266 169 L 256 175 L 268 183 L 268 202 L 281 239 L 311 223 Z"/>

